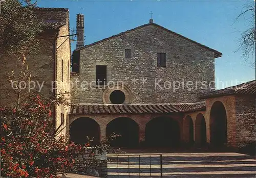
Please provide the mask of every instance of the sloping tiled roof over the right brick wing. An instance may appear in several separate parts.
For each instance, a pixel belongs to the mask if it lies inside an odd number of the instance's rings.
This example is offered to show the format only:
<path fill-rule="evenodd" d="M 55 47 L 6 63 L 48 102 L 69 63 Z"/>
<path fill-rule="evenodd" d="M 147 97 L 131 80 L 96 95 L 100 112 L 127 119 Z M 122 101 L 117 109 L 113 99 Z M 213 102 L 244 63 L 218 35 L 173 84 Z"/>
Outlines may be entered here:
<path fill-rule="evenodd" d="M 215 90 L 206 94 L 201 95 L 199 98 L 209 98 L 216 96 L 225 96 L 232 94 L 256 94 L 256 83 L 254 81 L 249 81 L 239 85 L 227 87 L 221 90 Z"/>

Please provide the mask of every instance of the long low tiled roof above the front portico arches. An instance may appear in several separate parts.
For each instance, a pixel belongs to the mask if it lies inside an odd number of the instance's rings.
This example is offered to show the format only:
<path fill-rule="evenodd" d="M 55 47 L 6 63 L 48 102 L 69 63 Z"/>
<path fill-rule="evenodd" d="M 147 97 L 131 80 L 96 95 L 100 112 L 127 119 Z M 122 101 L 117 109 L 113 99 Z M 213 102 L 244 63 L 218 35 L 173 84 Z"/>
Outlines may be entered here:
<path fill-rule="evenodd" d="M 73 105 L 71 114 L 151 114 L 205 110 L 205 102 L 184 104 Z"/>

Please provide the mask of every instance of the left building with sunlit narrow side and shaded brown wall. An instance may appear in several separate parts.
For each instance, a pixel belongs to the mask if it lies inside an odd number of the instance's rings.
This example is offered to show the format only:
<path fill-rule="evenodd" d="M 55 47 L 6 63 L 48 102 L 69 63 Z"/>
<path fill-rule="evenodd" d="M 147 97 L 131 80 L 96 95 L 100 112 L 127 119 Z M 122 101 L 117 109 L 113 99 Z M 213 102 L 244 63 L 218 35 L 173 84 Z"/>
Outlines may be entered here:
<path fill-rule="evenodd" d="M 44 31 L 38 36 L 40 40 L 40 52 L 37 55 L 28 56 L 26 63 L 29 66 L 33 81 L 38 85 L 31 90 L 46 97 L 57 95 L 58 93 L 70 93 L 70 58 L 71 46 L 69 40 L 69 10 L 64 8 L 35 8 L 35 13 L 45 22 Z M 19 69 L 20 61 L 15 57 L 1 59 L 1 104 L 10 104 L 10 97 L 6 91 L 10 90 L 10 85 L 6 83 L 8 73 Z M 37 84 L 37 83 L 36 83 Z M 26 88 L 26 92 L 27 92 Z M 67 95 L 67 97 L 69 97 Z M 56 126 L 61 124 L 64 127 L 68 122 L 68 106 L 55 106 L 53 115 L 56 118 Z M 65 129 L 62 134 L 66 134 Z"/>

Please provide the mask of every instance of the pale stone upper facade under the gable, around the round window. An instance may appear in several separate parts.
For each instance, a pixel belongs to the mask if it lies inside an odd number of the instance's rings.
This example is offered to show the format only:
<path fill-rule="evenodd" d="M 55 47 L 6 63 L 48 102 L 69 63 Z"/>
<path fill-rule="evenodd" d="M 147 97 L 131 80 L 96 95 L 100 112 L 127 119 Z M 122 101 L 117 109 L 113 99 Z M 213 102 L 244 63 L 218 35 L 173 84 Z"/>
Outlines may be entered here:
<path fill-rule="evenodd" d="M 126 48 L 131 49 L 131 58 L 124 57 Z M 157 67 L 158 52 L 166 53 L 166 67 Z M 209 92 L 209 87 L 201 89 L 198 83 L 198 90 L 181 87 L 174 92 L 173 82 L 182 85 L 183 81 L 192 81 L 195 88 L 196 81 L 215 80 L 214 52 L 154 25 L 81 49 L 80 73 L 72 77 L 78 84 L 72 89 L 73 103 L 103 103 L 104 88 L 94 84 L 96 88 L 85 89 L 80 85 L 82 81 L 96 81 L 96 65 L 107 66 L 107 83 L 122 81 L 131 90 L 133 103 L 193 103 L 199 100 L 199 94 Z M 133 79 L 138 79 L 136 84 Z M 170 88 L 155 89 L 155 80 L 160 79 L 162 88 L 165 81 L 171 82 Z"/>

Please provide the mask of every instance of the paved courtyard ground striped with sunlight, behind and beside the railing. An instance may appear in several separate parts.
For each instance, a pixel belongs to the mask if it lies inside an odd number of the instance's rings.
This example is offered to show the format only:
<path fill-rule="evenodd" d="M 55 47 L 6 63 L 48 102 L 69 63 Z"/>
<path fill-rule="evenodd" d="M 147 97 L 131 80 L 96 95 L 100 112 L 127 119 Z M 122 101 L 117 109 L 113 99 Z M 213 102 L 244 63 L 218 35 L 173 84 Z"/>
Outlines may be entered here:
<path fill-rule="evenodd" d="M 160 177 L 158 154 L 160 153 L 155 153 L 154 156 L 143 154 L 140 158 L 136 154 L 121 154 L 118 159 L 115 155 L 109 155 L 112 162 L 108 164 L 108 175 L 111 178 Z M 162 153 L 162 163 L 163 177 L 255 177 L 256 175 L 255 158 L 233 152 Z"/>

